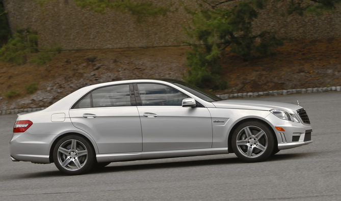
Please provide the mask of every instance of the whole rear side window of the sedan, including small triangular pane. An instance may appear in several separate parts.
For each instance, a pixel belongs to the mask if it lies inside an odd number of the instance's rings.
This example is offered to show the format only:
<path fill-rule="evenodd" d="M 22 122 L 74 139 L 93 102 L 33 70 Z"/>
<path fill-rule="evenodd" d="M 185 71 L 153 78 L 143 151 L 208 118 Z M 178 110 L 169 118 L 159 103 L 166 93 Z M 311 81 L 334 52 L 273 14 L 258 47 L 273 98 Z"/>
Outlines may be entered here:
<path fill-rule="evenodd" d="M 96 89 L 78 101 L 73 109 L 120 106 L 132 106 L 130 102 L 129 84 Z"/>

